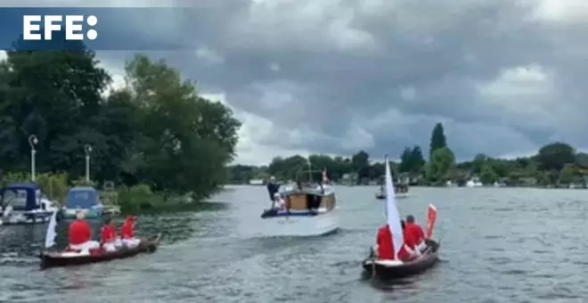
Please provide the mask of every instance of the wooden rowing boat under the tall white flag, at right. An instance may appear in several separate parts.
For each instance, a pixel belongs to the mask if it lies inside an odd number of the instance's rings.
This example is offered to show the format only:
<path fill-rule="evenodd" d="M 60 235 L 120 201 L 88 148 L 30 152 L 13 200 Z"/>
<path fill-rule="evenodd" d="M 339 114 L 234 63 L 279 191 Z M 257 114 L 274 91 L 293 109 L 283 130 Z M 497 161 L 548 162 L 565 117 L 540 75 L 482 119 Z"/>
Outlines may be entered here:
<path fill-rule="evenodd" d="M 426 240 L 426 243 L 428 248 L 421 258 L 404 263 L 394 260 L 374 260 L 373 251 L 371 251 L 370 256 L 362 262 L 363 269 L 369 274 L 375 273 L 381 280 L 394 280 L 421 274 L 435 266 L 438 261 L 440 244 L 433 240 Z"/>

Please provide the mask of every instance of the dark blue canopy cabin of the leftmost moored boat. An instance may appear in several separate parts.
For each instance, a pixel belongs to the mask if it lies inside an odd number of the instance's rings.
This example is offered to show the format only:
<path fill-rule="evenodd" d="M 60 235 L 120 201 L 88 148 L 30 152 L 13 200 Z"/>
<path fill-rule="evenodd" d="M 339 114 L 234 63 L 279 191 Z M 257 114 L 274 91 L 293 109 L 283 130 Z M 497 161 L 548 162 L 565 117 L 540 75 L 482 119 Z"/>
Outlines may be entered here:
<path fill-rule="evenodd" d="M 45 209 L 45 203 L 41 202 L 43 196 L 41 189 L 34 183 L 7 184 L 0 192 L 0 206 L 5 209 L 12 206 L 12 210 L 29 211 Z"/>

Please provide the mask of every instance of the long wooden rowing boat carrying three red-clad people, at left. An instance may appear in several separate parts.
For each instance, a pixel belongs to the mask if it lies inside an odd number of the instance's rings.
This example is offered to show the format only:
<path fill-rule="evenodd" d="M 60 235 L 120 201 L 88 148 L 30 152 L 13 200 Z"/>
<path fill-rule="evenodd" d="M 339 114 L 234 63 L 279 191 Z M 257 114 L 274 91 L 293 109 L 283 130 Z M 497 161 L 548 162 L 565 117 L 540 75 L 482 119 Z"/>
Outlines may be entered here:
<path fill-rule="evenodd" d="M 159 233 L 157 237 L 142 240 L 134 248 L 121 248 L 116 251 L 104 251 L 100 253 L 91 253 L 89 255 L 71 255 L 63 253 L 62 251 L 44 251 L 39 256 L 39 258 L 41 258 L 41 269 L 99 263 L 118 258 L 130 258 L 143 252 L 151 253 L 157 250 L 160 239 L 161 233 Z"/>

